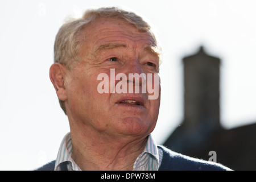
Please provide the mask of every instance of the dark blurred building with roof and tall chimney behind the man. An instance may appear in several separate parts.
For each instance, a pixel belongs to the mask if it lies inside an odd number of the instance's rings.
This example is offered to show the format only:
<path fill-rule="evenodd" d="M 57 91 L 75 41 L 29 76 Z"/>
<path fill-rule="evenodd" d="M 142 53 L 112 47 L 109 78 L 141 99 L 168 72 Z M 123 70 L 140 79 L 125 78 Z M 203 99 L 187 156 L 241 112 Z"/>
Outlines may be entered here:
<path fill-rule="evenodd" d="M 184 120 L 164 142 L 181 154 L 216 162 L 234 170 L 256 170 L 256 123 L 225 130 L 220 125 L 221 60 L 200 47 L 184 57 Z"/>

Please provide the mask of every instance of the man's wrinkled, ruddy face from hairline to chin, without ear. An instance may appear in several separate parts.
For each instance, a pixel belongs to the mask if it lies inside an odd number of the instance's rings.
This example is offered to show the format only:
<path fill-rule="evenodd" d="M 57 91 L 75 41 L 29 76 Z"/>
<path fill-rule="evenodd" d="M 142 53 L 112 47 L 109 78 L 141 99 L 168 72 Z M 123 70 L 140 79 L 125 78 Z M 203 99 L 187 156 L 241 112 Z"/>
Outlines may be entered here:
<path fill-rule="evenodd" d="M 148 32 L 117 19 L 97 19 L 84 30 L 85 43 L 80 49 L 80 60 L 68 72 L 65 82 L 69 120 L 85 125 L 90 131 L 108 135 L 146 136 L 154 130 L 160 96 L 148 100 L 148 92 L 111 93 L 110 69 L 124 73 L 158 73 L 159 56 L 152 47 L 154 39 Z M 109 77 L 109 92 L 99 93 L 98 75 Z M 152 74 L 154 75 L 154 74 Z M 112 78 L 113 80 L 113 78 Z M 106 81 L 106 80 L 105 80 Z M 115 80 L 117 85 L 119 80 Z M 127 81 L 127 88 L 131 81 Z M 154 76 L 152 76 L 154 85 Z M 156 88 L 160 93 L 160 84 Z M 159 94 L 160 95 L 160 94 Z"/>

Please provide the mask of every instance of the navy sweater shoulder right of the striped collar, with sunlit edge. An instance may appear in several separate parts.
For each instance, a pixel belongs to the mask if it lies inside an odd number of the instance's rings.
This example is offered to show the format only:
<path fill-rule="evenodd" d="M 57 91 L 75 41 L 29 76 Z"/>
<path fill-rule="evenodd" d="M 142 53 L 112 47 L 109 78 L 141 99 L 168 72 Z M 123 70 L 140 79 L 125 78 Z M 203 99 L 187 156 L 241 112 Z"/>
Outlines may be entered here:
<path fill-rule="evenodd" d="M 221 164 L 201 159 L 191 158 L 171 151 L 170 149 L 158 146 L 163 150 L 163 159 L 159 171 L 228 171 L 228 167 Z"/>

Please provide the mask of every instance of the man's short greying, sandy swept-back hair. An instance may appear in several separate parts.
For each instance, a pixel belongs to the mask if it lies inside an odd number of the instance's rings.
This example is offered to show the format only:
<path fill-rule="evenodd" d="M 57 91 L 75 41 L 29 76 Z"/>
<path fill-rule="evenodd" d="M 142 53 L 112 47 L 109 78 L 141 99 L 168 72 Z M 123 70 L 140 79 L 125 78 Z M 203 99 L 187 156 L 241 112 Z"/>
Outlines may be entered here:
<path fill-rule="evenodd" d="M 81 32 L 90 22 L 100 17 L 125 20 L 141 32 L 150 32 L 155 40 L 155 45 L 158 45 L 155 35 L 151 31 L 151 26 L 141 16 L 118 7 L 104 7 L 96 10 L 87 10 L 81 18 L 69 20 L 60 27 L 54 44 L 54 62 L 61 63 L 71 69 L 72 63 L 80 60 L 80 48 L 86 39 L 82 37 Z M 59 102 L 64 113 L 67 114 L 64 101 L 59 100 Z"/>

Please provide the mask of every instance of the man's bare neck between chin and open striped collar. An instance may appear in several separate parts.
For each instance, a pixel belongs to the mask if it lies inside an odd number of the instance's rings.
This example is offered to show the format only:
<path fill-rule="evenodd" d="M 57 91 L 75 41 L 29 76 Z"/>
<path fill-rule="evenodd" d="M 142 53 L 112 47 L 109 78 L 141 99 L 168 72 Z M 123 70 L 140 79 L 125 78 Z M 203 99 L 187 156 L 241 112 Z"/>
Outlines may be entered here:
<path fill-rule="evenodd" d="M 135 160 L 147 143 L 147 136 L 113 137 L 82 127 L 71 129 L 71 137 L 72 158 L 83 171 L 133 170 Z"/>

